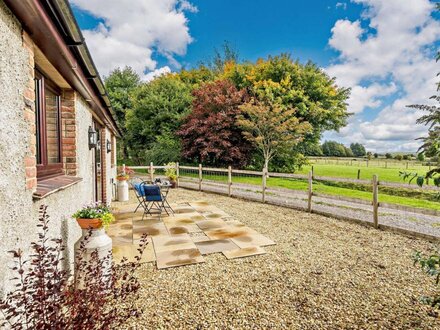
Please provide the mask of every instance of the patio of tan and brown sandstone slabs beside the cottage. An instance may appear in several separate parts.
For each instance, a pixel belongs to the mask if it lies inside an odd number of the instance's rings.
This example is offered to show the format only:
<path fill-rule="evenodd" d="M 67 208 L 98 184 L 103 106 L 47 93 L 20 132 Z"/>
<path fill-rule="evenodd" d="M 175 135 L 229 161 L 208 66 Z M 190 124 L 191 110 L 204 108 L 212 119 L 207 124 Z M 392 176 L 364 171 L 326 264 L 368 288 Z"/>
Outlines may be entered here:
<path fill-rule="evenodd" d="M 143 234 L 147 234 L 149 244 L 142 262 L 155 262 L 158 269 L 201 263 L 204 256 L 213 253 L 221 253 L 226 259 L 265 254 L 264 246 L 275 245 L 206 201 L 173 202 L 174 214 L 142 219 L 143 209 L 133 212 L 137 203 L 131 197 L 128 203 L 115 203 L 115 221 L 107 230 L 116 262 L 123 257 L 134 259 Z"/>

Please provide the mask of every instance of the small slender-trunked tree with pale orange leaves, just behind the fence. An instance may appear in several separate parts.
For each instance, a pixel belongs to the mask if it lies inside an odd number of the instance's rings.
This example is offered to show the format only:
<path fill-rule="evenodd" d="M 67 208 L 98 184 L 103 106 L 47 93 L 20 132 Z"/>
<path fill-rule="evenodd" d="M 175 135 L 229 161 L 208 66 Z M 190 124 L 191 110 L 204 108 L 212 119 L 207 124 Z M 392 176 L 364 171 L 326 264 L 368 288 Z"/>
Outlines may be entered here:
<path fill-rule="evenodd" d="M 279 104 L 251 100 L 242 105 L 242 113 L 237 116 L 238 125 L 244 137 L 260 151 L 268 169 L 270 161 L 293 148 L 312 130 L 306 121 L 296 117 L 297 110 Z"/>

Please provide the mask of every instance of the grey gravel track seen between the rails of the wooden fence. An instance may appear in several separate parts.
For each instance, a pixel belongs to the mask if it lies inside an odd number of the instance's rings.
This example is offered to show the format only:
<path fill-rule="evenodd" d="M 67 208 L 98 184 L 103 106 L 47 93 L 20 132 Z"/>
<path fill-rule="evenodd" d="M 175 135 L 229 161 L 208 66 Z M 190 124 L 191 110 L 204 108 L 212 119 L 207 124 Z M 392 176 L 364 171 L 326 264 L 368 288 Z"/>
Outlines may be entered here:
<path fill-rule="evenodd" d="M 181 183 L 181 186 L 198 189 L 198 183 L 194 181 L 184 181 Z M 224 194 L 227 191 L 227 186 L 217 182 L 205 182 L 203 184 L 203 190 Z M 234 184 L 233 194 L 246 199 L 261 200 L 261 188 L 253 185 Z M 272 203 L 284 204 L 296 208 L 305 209 L 307 207 L 306 192 L 301 191 L 272 188 L 267 190 L 266 199 Z M 370 223 L 373 222 L 371 205 L 325 197 L 313 197 L 313 209 L 335 216 Z M 440 217 L 432 215 L 380 207 L 379 224 L 440 238 Z"/>

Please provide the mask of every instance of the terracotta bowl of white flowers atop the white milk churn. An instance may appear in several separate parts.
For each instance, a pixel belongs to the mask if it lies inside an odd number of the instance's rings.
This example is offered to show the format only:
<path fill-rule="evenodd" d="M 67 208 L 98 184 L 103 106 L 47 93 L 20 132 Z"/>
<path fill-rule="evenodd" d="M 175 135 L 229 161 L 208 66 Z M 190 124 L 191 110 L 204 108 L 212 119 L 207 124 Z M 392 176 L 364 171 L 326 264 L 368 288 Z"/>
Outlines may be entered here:
<path fill-rule="evenodd" d="M 73 215 L 82 229 L 107 228 L 115 219 L 107 205 L 100 202 L 84 206 Z"/>

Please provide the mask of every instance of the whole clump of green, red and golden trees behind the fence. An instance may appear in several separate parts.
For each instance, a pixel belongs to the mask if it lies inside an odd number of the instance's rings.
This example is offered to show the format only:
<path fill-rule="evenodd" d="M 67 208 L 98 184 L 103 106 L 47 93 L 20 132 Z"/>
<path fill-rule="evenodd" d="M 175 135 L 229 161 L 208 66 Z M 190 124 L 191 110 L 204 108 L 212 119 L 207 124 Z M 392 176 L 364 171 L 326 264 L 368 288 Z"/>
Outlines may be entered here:
<path fill-rule="evenodd" d="M 134 164 L 293 171 L 350 115 L 350 90 L 314 63 L 287 54 L 239 61 L 228 45 L 194 69 L 142 82 L 119 68 L 105 84 L 123 130 L 119 156 Z"/>

